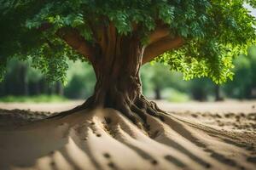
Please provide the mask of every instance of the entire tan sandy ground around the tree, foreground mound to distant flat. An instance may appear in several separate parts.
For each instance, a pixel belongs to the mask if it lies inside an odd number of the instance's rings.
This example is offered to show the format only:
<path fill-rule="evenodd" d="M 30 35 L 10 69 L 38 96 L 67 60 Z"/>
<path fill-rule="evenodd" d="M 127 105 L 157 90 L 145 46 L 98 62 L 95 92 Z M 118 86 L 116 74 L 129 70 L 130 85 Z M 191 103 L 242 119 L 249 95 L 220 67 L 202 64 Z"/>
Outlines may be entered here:
<path fill-rule="evenodd" d="M 148 131 L 111 109 L 38 121 L 81 103 L 0 104 L 30 109 L 0 111 L 0 169 L 256 169 L 256 101 L 157 101 Z"/>

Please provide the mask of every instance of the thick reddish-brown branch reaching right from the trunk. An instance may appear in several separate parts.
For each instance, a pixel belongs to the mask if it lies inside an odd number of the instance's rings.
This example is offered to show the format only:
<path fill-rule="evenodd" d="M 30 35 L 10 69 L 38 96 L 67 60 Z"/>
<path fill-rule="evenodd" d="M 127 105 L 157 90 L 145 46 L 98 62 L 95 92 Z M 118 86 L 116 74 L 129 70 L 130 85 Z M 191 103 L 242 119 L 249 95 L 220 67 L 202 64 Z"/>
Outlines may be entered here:
<path fill-rule="evenodd" d="M 173 48 L 179 48 L 183 45 L 183 38 L 182 37 L 163 37 L 160 38 L 158 41 L 155 41 L 148 45 L 145 48 L 143 54 L 143 64 L 153 60 L 155 57 L 159 56 L 160 54 L 165 53 L 168 50 Z"/>

